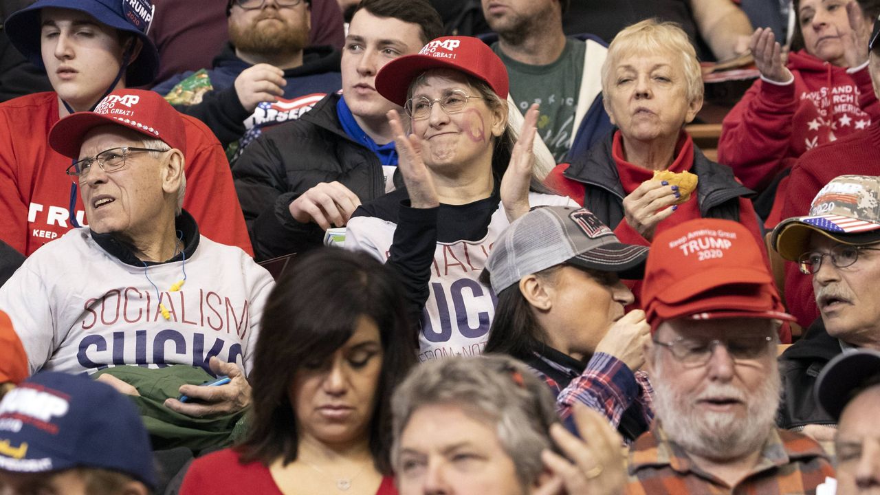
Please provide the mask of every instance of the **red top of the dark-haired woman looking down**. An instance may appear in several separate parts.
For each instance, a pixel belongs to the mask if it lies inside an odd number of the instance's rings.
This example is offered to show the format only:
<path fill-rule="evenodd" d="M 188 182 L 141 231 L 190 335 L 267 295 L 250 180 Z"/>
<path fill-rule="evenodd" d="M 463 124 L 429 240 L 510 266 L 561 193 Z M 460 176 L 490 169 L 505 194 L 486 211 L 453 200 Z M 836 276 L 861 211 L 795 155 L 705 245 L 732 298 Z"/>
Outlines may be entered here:
<path fill-rule="evenodd" d="M 254 461 L 242 464 L 238 452 L 224 448 L 219 452 L 196 459 L 187 471 L 180 487 L 180 495 L 238 495 L 260 493 L 282 495 L 272 479 L 268 467 Z M 398 495 L 394 478 L 383 477 L 376 495 Z"/>

